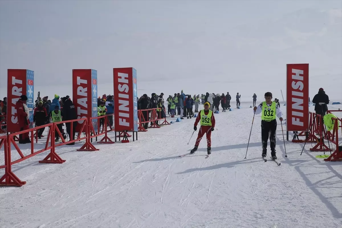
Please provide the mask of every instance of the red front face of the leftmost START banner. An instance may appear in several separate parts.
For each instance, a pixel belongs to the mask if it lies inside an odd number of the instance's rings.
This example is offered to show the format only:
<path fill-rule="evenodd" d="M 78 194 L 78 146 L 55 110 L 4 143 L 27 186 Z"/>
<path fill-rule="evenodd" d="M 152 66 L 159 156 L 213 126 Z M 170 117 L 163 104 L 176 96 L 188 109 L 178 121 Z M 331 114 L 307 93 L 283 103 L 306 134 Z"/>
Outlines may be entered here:
<path fill-rule="evenodd" d="M 17 111 L 15 104 L 21 95 L 26 95 L 26 69 L 7 70 L 7 131 L 18 132 Z M 33 84 L 33 83 L 32 83 Z"/>

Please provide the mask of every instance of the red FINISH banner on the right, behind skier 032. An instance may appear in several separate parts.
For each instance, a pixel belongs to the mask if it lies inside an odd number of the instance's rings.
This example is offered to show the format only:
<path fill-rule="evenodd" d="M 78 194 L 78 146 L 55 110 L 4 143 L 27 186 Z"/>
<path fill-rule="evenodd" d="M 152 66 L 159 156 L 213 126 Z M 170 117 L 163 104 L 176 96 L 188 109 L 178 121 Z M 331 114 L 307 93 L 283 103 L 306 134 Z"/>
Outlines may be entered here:
<path fill-rule="evenodd" d="M 309 130 L 309 64 L 286 65 L 287 131 Z"/>

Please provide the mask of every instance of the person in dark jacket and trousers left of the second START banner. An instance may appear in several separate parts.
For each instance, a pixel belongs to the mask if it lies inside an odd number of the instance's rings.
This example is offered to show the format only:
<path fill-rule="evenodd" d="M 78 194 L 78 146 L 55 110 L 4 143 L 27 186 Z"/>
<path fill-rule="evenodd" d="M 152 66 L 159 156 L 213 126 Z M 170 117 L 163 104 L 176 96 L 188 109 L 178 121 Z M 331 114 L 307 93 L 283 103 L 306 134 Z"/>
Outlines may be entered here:
<path fill-rule="evenodd" d="M 67 98 L 63 98 L 63 121 L 65 120 L 76 120 L 77 115 L 76 115 L 76 110 L 73 102 Z M 70 135 L 71 131 L 71 123 L 65 123 L 66 126 L 66 132 L 69 135 L 70 141 L 75 140 L 75 130 L 76 130 L 76 125 L 77 121 L 72 122 L 73 123 L 73 134 Z M 75 145 L 75 143 L 69 143 L 67 145 Z"/>

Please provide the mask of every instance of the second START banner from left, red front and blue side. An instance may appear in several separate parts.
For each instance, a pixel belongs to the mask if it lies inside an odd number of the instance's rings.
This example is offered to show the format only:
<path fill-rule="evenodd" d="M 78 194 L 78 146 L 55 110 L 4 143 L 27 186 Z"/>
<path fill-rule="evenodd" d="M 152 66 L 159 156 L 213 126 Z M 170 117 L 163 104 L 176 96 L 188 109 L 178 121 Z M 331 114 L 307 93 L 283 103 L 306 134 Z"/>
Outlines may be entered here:
<path fill-rule="evenodd" d="M 73 103 L 77 111 L 77 119 L 97 117 L 96 70 L 73 69 Z M 93 122 L 96 123 L 96 120 Z M 76 131 L 80 130 L 83 120 L 79 120 L 78 123 Z M 97 129 L 96 126 L 94 129 Z M 86 128 L 83 131 L 86 131 Z"/>

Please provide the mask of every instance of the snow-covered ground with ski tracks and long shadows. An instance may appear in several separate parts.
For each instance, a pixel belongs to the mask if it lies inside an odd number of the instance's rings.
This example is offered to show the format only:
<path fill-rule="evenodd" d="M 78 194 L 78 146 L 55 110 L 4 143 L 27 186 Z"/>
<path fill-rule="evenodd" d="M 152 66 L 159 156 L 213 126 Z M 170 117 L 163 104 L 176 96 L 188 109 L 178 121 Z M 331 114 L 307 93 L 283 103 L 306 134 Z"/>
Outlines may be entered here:
<path fill-rule="evenodd" d="M 58 147 L 63 164 L 38 163 L 48 152 L 17 163 L 13 172 L 27 184 L 0 188 L 0 227 L 341 227 L 341 163 L 315 158 L 323 152 L 308 144 L 300 156 L 303 144 L 291 142 L 285 158 L 280 124 L 281 165 L 263 162 L 260 116 L 244 159 L 252 117 L 251 108 L 215 114 L 208 159 L 205 139 L 178 157 L 197 135 L 187 145 L 195 120 L 185 119 L 129 144 L 95 143 L 100 151 Z"/>

